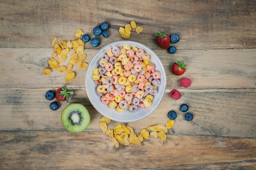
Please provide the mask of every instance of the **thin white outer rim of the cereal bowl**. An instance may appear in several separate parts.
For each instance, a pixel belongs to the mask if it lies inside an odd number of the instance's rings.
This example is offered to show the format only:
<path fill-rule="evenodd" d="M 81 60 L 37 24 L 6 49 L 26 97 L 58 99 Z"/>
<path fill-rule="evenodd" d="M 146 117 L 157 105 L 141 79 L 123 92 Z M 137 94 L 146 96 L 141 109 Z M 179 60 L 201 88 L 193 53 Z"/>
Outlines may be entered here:
<path fill-rule="evenodd" d="M 160 60 L 160 58 L 158 57 L 158 55 L 157 55 L 152 49 L 150 49 L 148 46 L 145 46 L 144 44 L 141 44 L 141 43 L 139 43 L 139 42 L 127 41 L 127 40 L 115 41 L 115 42 L 112 42 L 112 43 L 110 43 L 110 44 L 107 44 L 107 45 L 103 46 L 101 49 L 99 49 L 99 50 L 97 51 L 97 53 L 95 53 L 95 54 L 92 56 L 90 62 L 88 63 L 88 67 L 86 68 L 86 72 L 85 72 L 85 91 L 86 91 L 86 93 L 87 93 L 88 99 L 90 100 L 92 106 L 93 106 L 101 115 L 103 115 L 103 116 L 105 116 L 105 117 L 107 117 L 107 116 L 104 115 L 103 113 L 101 113 L 101 112 L 94 106 L 94 104 L 92 103 L 92 100 L 90 99 L 90 97 L 89 97 L 89 95 L 88 95 L 88 89 L 87 89 L 87 86 L 86 86 L 86 76 L 87 76 L 87 73 L 88 73 L 89 65 L 90 65 L 90 63 L 92 62 L 92 59 L 93 59 L 102 49 L 104 49 L 106 46 L 109 46 L 109 45 L 115 44 L 115 43 L 120 43 L 120 42 L 124 42 L 124 43 L 130 43 L 130 42 L 131 42 L 131 43 L 139 44 L 139 45 L 145 47 L 146 49 L 149 49 L 150 52 L 153 53 L 153 54 L 155 55 L 155 57 L 157 58 L 157 60 L 160 62 L 161 66 L 164 68 L 164 65 L 163 65 L 162 61 Z M 164 73 L 164 95 L 165 95 L 165 91 L 166 91 L 166 73 L 165 73 L 165 70 L 164 70 L 164 69 L 163 69 L 163 73 Z M 88 74 L 89 74 L 89 73 L 88 73 Z M 141 120 L 141 119 L 144 119 L 145 117 L 148 117 L 149 115 L 151 115 L 151 113 L 153 113 L 153 112 L 158 108 L 158 106 L 161 104 L 162 100 L 164 99 L 164 95 L 162 96 L 162 98 L 161 98 L 159 104 L 155 107 L 155 109 L 153 109 L 152 111 L 150 111 L 150 113 L 149 113 L 148 115 L 146 115 L 146 116 L 144 116 L 144 117 L 142 117 L 142 118 L 140 118 L 140 119 L 133 120 L 133 121 L 120 121 L 120 120 L 115 120 L 115 119 L 111 119 L 111 120 L 117 121 L 117 122 L 125 122 L 125 123 L 128 123 L 128 122 L 135 122 L 135 121 L 139 121 L 139 120 Z"/>

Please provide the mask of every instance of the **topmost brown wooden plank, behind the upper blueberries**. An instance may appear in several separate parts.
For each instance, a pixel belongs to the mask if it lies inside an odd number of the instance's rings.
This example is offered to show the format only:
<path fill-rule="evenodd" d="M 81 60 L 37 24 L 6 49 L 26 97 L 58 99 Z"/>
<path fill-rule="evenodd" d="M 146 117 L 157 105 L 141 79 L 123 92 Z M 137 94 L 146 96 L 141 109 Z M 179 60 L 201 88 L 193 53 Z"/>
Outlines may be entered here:
<path fill-rule="evenodd" d="M 132 30 L 128 40 L 153 49 L 159 49 L 155 43 L 156 29 L 178 33 L 178 49 L 256 48 L 255 7 L 253 0 L 1 0 L 0 47 L 51 48 L 55 36 L 73 40 L 75 31 L 83 29 L 94 37 L 92 29 L 107 21 L 111 24 L 110 38 L 100 37 L 101 48 L 123 40 L 119 27 L 135 20 L 144 30 L 139 35 Z M 92 46 L 87 43 L 86 48 Z"/>

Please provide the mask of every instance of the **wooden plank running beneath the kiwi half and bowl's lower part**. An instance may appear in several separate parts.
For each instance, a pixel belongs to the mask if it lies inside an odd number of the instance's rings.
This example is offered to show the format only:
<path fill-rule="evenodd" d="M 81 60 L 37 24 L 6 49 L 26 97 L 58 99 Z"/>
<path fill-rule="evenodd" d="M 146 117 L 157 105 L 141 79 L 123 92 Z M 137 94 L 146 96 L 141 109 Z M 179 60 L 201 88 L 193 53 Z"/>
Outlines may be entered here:
<path fill-rule="evenodd" d="M 65 130 L 61 123 L 61 112 L 68 104 L 61 102 L 59 110 L 49 109 L 51 101 L 45 99 L 50 88 L 1 88 L 0 89 L 0 130 Z M 81 103 L 90 113 L 91 122 L 86 131 L 101 131 L 102 117 L 91 106 L 85 88 L 73 88 L 74 96 L 69 103 Z M 154 124 L 166 124 L 169 110 L 177 112 L 177 119 L 170 134 L 214 135 L 233 137 L 256 137 L 256 93 L 255 89 L 234 90 L 180 90 L 182 98 L 173 100 L 166 91 L 157 110 L 137 122 L 129 123 L 140 132 Z M 181 104 L 189 105 L 193 113 L 191 122 L 184 120 L 179 110 Z M 112 121 L 110 128 L 118 123 Z"/>

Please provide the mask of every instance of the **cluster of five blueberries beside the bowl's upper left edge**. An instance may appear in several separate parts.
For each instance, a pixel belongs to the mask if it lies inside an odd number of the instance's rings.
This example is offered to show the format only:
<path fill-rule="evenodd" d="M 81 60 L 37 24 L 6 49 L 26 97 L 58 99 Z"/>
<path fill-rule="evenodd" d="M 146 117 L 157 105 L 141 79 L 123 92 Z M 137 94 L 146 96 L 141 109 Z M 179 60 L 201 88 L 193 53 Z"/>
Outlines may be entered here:
<path fill-rule="evenodd" d="M 96 26 L 94 29 L 93 29 L 93 34 L 95 35 L 95 36 L 100 36 L 101 34 L 102 34 L 102 36 L 104 37 L 104 38 L 108 38 L 108 32 L 107 32 L 107 30 L 109 29 L 109 24 L 108 24 L 108 22 L 102 22 L 101 23 L 101 25 L 100 26 Z M 88 34 L 84 34 L 83 36 L 82 36 L 82 40 L 83 40 L 83 42 L 89 42 L 90 41 L 90 36 L 88 35 Z M 100 44 L 100 40 L 99 40 L 99 38 L 92 38 L 92 40 L 91 40 L 91 45 L 93 46 L 93 47 L 97 47 L 97 46 L 99 46 L 99 44 Z"/>

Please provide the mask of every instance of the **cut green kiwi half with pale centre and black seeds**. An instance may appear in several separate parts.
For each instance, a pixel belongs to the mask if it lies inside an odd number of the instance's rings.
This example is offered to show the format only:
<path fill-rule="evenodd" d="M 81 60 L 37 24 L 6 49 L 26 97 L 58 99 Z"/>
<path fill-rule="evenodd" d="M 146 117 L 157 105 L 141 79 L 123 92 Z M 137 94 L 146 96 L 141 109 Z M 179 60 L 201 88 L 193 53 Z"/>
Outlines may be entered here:
<path fill-rule="evenodd" d="M 69 132 L 82 132 L 89 125 L 90 119 L 85 106 L 77 103 L 65 107 L 61 114 L 61 122 Z"/>

